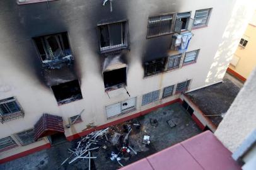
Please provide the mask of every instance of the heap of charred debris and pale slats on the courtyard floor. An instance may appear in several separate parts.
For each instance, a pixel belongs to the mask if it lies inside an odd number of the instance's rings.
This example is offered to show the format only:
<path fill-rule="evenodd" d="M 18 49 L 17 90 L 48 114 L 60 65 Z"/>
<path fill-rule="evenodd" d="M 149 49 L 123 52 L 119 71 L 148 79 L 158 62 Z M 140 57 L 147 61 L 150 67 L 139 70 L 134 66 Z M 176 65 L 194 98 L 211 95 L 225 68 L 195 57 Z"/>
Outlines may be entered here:
<path fill-rule="evenodd" d="M 73 149 L 68 149 L 70 156 L 62 162 L 61 166 L 66 162 L 72 164 L 79 159 L 87 159 L 90 169 L 91 159 L 96 159 L 93 156 L 93 152 L 98 152 L 100 149 L 103 149 L 107 154 L 106 159 L 123 166 L 122 161 L 128 161 L 132 156 L 137 155 L 136 150 L 129 144 L 129 135 L 132 131 L 138 132 L 140 128 L 141 124 L 138 121 L 129 121 L 121 125 L 92 132 L 76 142 Z M 141 143 L 148 145 L 150 143 L 149 136 L 146 136 L 146 142 L 144 137 Z"/>

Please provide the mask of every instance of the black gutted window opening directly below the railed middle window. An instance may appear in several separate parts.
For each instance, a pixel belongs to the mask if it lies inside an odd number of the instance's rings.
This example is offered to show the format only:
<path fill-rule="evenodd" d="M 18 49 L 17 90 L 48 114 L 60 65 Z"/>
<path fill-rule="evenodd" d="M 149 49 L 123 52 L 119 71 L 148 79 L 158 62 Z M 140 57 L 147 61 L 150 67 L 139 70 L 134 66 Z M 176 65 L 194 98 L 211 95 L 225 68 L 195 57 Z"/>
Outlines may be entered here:
<path fill-rule="evenodd" d="M 105 89 L 123 88 L 126 86 L 127 67 L 103 72 Z"/>

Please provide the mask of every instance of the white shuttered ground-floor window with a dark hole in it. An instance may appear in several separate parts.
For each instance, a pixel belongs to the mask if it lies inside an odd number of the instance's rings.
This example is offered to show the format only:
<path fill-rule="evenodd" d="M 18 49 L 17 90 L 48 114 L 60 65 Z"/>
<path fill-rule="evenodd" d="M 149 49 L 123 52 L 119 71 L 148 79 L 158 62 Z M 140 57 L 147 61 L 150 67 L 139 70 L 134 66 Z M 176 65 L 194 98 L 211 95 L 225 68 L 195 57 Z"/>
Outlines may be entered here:
<path fill-rule="evenodd" d="M 137 109 L 137 97 L 120 101 L 106 106 L 107 120 L 135 111 Z"/>

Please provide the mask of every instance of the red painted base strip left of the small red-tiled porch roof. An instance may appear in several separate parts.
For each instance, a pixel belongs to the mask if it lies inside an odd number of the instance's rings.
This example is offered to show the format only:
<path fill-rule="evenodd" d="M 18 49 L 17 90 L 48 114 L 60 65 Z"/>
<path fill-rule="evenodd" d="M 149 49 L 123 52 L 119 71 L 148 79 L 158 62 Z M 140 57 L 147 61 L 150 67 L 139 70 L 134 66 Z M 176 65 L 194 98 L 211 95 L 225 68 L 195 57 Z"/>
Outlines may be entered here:
<path fill-rule="evenodd" d="M 13 161 L 13 160 L 18 159 L 20 157 L 27 156 L 29 154 L 33 154 L 34 152 L 38 152 L 40 150 L 49 149 L 49 148 L 50 148 L 50 143 L 45 144 L 45 145 L 41 145 L 39 147 L 35 147 L 33 149 L 26 150 L 24 152 L 20 152 L 18 154 L 13 155 L 13 156 L 9 156 L 9 157 L 6 157 L 4 159 L 0 159 L 0 164 L 3 164 L 4 162 Z"/>

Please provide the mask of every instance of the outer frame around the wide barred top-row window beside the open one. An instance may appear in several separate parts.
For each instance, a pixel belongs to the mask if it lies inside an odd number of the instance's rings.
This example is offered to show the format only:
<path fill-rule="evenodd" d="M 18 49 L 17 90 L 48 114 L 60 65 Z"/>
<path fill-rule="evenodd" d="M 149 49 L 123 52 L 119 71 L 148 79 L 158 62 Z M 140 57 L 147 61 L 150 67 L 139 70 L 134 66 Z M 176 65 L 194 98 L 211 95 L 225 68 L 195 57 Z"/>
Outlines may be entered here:
<path fill-rule="evenodd" d="M 155 38 L 155 37 L 161 37 L 161 36 L 164 36 L 164 35 L 170 35 L 170 34 L 172 34 L 172 33 L 175 33 L 175 31 L 174 31 L 174 28 L 175 28 L 175 21 L 176 21 L 176 16 L 175 16 L 175 14 L 176 13 L 166 13 L 166 14 L 158 14 L 158 15 L 154 15 L 154 16 L 149 16 L 148 17 L 148 30 L 147 30 L 147 36 L 146 36 L 146 38 L 147 39 L 149 39 L 149 38 Z M 170 30 L 171 30 L 171 32 L 170 33 L 160 33 L 160 34 L 158 34 L 158 35 L 151 35 L 151 36 L 149 36 L 149 24 L 150 24 L 150 22 L 149 22 L 149 20 L 151 19 L 151 18 L 156 18 L 156 17 L 163 17 L 163 16 L 168 16 L 168 15 L 172 15 L 172 26 L 171 26 L 171 28 L 170 28 Z M 159 21 L 159 23 L 161 23 L 161 21 Z"/>

